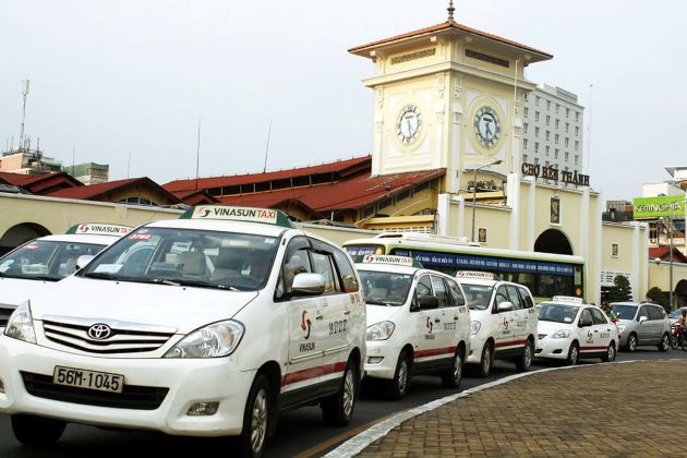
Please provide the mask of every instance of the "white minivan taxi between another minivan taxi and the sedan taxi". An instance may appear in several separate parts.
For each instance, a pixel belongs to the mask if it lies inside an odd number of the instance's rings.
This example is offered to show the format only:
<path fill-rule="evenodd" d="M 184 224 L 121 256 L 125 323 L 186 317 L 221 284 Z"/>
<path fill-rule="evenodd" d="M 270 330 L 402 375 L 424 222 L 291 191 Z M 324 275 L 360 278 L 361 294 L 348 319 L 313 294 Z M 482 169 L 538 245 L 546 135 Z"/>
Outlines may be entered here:
<path fill-rule="evenodd" d="M 472 320 L 468 363 L 486 377 L 494 360 L 515 361 L 518 371 L 532 364 L 537 345 L 537 310 L 530 290 L 494 279 L 485 272 L 458 272 Z"/>

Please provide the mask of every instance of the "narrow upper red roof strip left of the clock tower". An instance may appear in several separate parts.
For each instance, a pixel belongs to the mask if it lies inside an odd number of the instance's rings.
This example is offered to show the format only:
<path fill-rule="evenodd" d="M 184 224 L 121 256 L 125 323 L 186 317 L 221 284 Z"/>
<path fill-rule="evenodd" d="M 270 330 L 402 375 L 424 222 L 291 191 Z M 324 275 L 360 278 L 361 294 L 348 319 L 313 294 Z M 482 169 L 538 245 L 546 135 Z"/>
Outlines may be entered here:
<path fill-rule="evenodd" d="M 372 156 L 362 156 L 354 157 L 352 159 L 337 160 L 335 162 L 326 162 L 318 166 L 300 167 L 290 170 L 269 171 L 266 173 L 248 173 L 228 177 L 200 178 L 197 180 L 197 184 L 196 180 L 193 178 L 188 180 L 176 180 L 164 184 L 162 188 L 165 188 L 167 191 L 176 193 L 180 191 L 194 191 L 220 186 L 234 186 L 239 184 L 262 183 L 266 181 L 308 177 L 321 173 L 336 173 L 339 178 L 343 178 L 349 173 L 354 173 L 360 168 L 364 169 L 366 167 L 370 167 L 369 165 L 371 162 Z"/>

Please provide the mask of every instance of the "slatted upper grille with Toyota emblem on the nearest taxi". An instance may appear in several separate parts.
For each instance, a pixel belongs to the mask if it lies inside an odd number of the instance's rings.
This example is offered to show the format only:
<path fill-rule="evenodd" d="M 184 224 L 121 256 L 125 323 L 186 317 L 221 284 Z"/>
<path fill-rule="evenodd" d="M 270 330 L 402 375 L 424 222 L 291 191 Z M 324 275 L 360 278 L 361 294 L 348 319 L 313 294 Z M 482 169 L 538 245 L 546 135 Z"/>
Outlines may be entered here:
<path fill-rule="evenodd" d="M 98 322 L 95 322 L 98 323 Z M 45 317 L 43 332 L 48 340 L 65 347 L 89 353 L 135 353 L 154 351 L 160 348 L 171 336 L 173 330 L 156 332 L 149 327 L 136 329 L 132 324 L 113 324 L 107 339 L 97 340 L 88 336 L 88 328 L 95 323 L 79 323 L 76 320 L 51 320 Z"/>

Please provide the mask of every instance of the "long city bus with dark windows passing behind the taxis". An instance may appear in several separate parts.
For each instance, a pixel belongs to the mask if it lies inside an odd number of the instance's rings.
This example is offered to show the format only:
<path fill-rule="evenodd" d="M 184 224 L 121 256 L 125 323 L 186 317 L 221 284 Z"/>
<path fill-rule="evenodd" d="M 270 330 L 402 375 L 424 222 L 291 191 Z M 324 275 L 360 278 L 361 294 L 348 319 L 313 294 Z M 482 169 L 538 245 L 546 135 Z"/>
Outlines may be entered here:
<path fill-rule="evenodd" d="M 393 254 L 454 276 L 459 270 L 492 273 L 496 279 L 525 285 L 538 302 L 554 296 L 586 297 L 581 256 L 492 249 L 454 237 L 398 232 L 350 240 L 343 248 L 354 262 L 365 254 Z"/>

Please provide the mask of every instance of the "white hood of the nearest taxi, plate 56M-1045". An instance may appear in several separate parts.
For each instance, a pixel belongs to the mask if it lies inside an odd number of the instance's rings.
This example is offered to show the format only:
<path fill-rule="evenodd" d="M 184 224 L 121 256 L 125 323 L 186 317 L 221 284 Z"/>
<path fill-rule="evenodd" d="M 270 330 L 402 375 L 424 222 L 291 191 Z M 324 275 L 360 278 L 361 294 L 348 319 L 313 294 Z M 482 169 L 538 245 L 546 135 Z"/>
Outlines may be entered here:
<path fill-rule="evenodd" d="M 31 300 L 34 320 L 81 320 L 173 328 L 188 334 L 228 320 L 257 297 L 255 291 L 228 291 L 69 277 Z"/>

